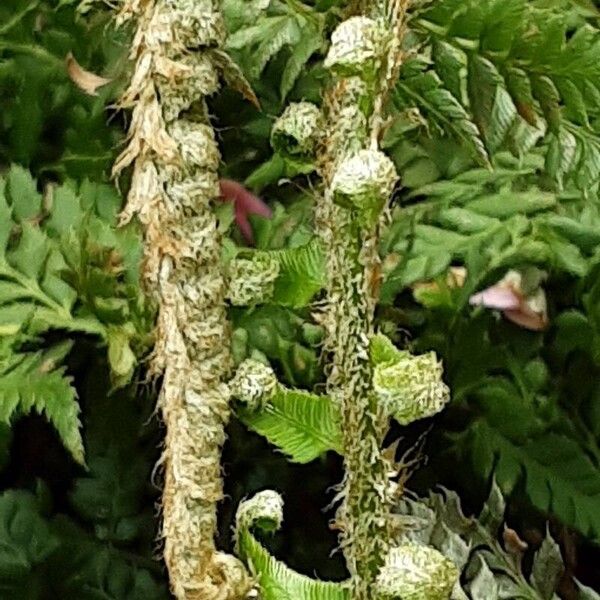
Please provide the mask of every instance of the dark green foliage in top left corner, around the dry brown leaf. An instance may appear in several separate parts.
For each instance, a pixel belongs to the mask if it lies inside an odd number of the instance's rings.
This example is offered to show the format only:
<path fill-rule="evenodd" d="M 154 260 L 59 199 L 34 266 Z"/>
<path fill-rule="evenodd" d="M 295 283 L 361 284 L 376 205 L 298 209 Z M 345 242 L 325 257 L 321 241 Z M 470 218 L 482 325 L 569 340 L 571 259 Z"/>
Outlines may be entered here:
<path fill-rule="evenodd" d="M 121 139 L 108 125 L 125 66 L 110 14 L 76 13 L 75 2 L 6 0 L 0 7 L 0 164 L 45 175 L 105 175 Z M 68 76 L 72 53 L 115 83 L 87 96 Z"/>

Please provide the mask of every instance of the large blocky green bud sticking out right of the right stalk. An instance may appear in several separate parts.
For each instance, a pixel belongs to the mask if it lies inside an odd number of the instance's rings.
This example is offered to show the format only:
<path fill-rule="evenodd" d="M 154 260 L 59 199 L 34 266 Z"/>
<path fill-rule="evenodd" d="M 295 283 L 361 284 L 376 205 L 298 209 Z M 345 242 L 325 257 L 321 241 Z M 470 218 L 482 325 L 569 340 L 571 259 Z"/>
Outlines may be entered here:
<path fill-rule="evenodd" d="M 373 371 L 373 389 L 387 412 L 401 425 L 431 417 L 450 400 L 442 380 L 443 368 L 435 352 L 386 362 Z"/>

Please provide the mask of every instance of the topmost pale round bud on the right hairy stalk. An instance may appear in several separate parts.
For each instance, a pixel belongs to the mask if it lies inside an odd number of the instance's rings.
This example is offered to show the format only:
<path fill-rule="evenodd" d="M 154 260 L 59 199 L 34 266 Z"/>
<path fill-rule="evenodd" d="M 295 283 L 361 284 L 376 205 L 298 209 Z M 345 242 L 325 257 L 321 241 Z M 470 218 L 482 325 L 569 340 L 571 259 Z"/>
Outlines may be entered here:
<path fill-rule="evenodd" d="M 373 19 L 350 17 L 331 35 L 325 67 L 342 77 L 360 75 L 370 79 L 385 54 L 388 35 Z"/>

